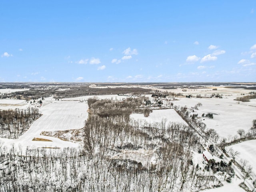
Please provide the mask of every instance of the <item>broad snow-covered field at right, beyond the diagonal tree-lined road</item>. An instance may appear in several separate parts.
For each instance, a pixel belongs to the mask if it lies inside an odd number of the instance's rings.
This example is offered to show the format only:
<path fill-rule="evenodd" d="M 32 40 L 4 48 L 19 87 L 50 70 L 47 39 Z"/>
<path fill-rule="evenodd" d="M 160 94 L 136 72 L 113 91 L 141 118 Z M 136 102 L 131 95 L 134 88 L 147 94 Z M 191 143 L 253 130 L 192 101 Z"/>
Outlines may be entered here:
<path fill-rule="evenodd" d="M 233 97 L 226 98 L 179 98 L 174 101 L 174 105 L 194 107 L 198 102 L 202 103 L 199 110 L 195 110 L 195 114 L 212 113 L 214 118 L 202 118 L 207 128 L 213 128 L 220 137 L 228 137 L 228 135 L 237 135 L 238 129 L 244 129 L 246 132 L 252 127 L 252 120 L 256 114 L 256 99 L 251 99 L 252 102 L 240 102 L 233 100 Z"/>

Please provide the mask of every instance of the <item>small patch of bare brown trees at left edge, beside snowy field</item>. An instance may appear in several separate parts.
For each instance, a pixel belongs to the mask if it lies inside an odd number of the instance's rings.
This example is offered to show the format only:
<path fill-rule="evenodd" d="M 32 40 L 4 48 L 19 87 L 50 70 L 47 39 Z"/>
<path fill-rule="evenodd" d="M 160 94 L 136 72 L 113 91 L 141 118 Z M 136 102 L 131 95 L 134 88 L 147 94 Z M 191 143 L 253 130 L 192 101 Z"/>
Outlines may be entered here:
<path fill-rule="evenodd" d="M 19 138 L 40 116 L 37 108 L 0 110 L 0 137 Z"/>

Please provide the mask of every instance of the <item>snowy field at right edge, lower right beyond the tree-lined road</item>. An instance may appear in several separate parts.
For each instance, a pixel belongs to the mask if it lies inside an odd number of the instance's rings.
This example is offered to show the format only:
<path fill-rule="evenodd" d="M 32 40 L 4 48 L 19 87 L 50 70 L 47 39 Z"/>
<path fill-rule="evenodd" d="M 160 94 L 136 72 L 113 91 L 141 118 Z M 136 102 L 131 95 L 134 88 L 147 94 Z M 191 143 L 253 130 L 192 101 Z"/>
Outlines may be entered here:
<path fill-rule="evenodd" d="M 244 141 L 238 144 L 234 144 L 232 146 L 228 146 L 229 148 L 233 148 L 234 151 L 238 151 L 240 154 L 236 157 L 236 161 L 239 163 L 240 159 L 248 160 L 248 165 L 252 166 L 252 171 L 256 174 L 256 140 Z"/>

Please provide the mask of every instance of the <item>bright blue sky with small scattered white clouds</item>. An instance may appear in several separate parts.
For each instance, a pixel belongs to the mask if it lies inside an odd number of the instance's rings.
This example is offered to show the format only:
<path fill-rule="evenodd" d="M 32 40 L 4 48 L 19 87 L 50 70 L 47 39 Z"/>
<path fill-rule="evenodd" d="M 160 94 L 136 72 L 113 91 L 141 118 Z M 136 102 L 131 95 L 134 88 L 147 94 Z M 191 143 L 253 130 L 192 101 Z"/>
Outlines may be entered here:
<path fill-rule="evenodd" d="M 256 82 L 256 1 L 0 3 L 0 82 Z"/>

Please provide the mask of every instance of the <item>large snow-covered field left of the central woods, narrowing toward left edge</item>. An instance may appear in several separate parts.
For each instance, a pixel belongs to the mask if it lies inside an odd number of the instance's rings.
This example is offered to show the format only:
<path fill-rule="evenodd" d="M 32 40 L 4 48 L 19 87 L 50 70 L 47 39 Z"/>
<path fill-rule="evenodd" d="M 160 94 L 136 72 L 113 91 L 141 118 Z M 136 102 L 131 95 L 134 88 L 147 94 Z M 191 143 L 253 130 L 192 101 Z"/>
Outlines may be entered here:
<path fill-rule="evenodd" d="M 26 148 L 36 147 L 78 147 L 79 144 L 66 142 L 54 137 L 41 136 L 42 131 L 68 130 L 83 128 L 88 118 L 88 105 L 77 101 L 56 101 L 40 108 L 42 116 L 38 118 L 18 140 L 0 138 L 4 146 Z M 52 142 L 32 141 L 34 137 L 52 140 Z"/>

